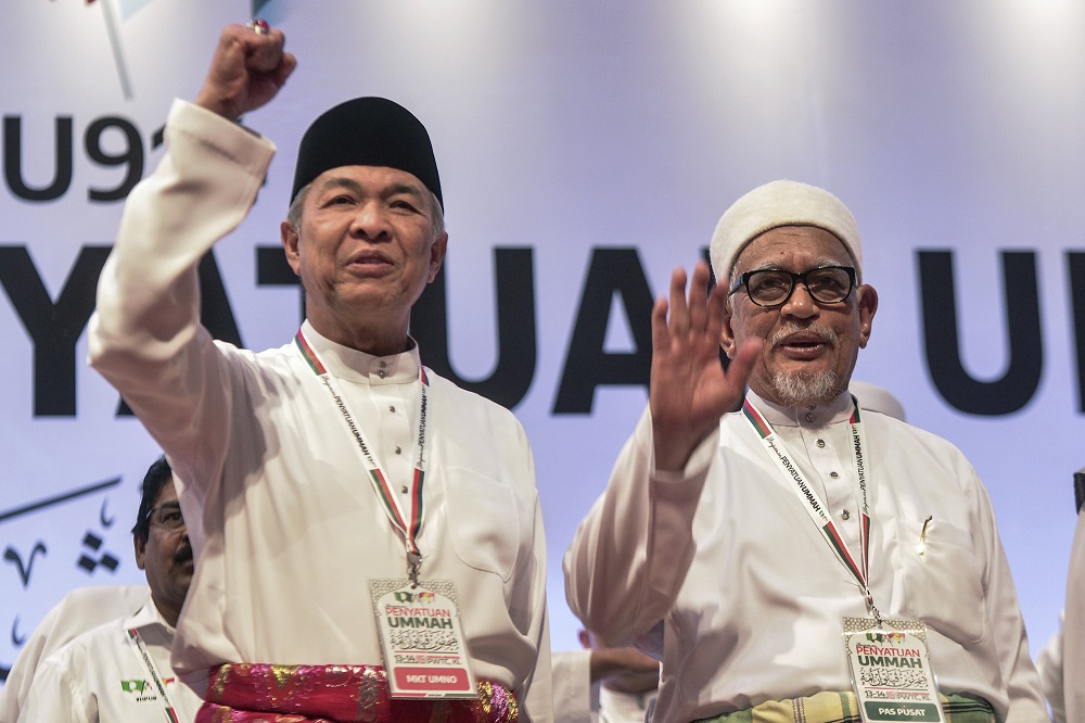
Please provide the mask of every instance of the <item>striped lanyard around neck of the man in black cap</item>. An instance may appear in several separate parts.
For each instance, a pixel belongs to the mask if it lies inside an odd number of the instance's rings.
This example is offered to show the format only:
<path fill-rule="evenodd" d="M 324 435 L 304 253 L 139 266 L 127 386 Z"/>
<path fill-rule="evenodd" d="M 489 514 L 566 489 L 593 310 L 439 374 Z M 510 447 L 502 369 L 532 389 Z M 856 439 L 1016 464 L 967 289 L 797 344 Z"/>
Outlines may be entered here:
<path fill-rule="evenodd" d="M 331 394 L 332 404 L 335 405 L 335 409 L 343 417 L 343 422 L 346 424 L 347 431 L 355 442 L 355 448 L 361 456 L 362 464 L 369 472 L 369 481 L 373 485 L 373 491 L 376 493 L 376 497 L 381 500 L 384 512 L 388 516 L 388 520 L 392 522 L 392 527 L 394 527 L 404 538 L 404 546 L 407 549 L 407 574 L 411 582 L 418 584 L 418 572 L 419 567 L 422 563 L 422 556 L 419 553 L 418 545 L 414 541 L 418 538 L 419 532 L 422 530 L 422 481 L 425 477 L 425 411 L 429 401 L 426 389 L 430 386 L 430 380 L 425 377 L 425 369 L 419 365 L 418 378 L 421 382 L 421 395 L 419 399 L 418 413 L 418 458 L 414 462 L 414 474 L 411 480 L 410 519 L 408 520 L 404 519 L 399 511 L 399 507 L 395 504 L 392 490 L 388 486 L 387 477 L 381 470 L 380 465 L 376 464 L 376 459 L 373 457 L 369 445 L 366 444 L 366 440 L 361 435 L 361 430 L 354 421 L 354 417 L 346 406 L 346 401 L 335 389 L 332 376 L 328 373 L 328 370 L 320 360 L 319 355 L 317 355 L 316 350 L 309 346 L 308 342 L 305 341 L 305 337 L 302 334 L 301 329 L 298 329 L 297 334 L 294 337 L 294 345 L 302 358 L 309 365 L 309 368 L 311 368 L 312 371 L 320 377 L 320 381 Z"/>

